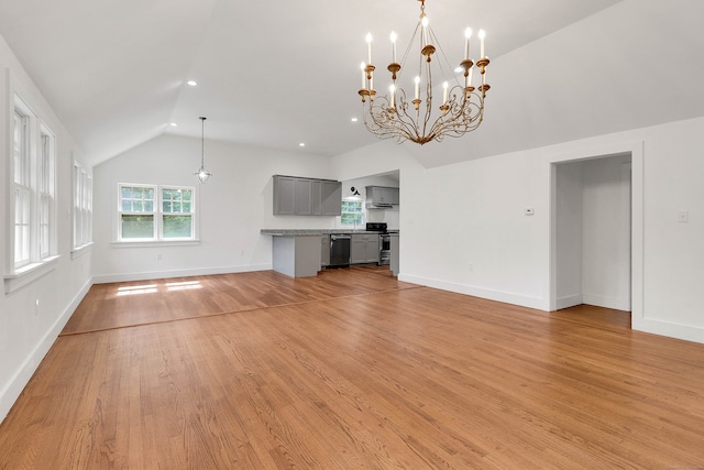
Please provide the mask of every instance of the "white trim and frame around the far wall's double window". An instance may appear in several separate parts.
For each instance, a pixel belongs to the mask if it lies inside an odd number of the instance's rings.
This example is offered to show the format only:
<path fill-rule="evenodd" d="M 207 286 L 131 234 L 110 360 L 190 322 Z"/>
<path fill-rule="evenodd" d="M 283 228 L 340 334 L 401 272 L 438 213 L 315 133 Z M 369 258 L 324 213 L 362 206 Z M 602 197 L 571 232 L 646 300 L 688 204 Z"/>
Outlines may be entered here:
<path fill-rule="evenodd" d="M 148 187 L 154 189 L 154 211 L 153 212 L 142 212 L 142 214 L 153 214 L 154 215 L 154 238 L 122 238 L 122 221 L 121 215 L 122 212 L 122 187 Z M 191 199 L 191 212 L 190 216 L 193 218 L 193 238 L 163 238 L 163 216 L 164 212 L 162 209 L 162 189 L 188 189 L 193 193 Z M 111 245 L 114 248 L 146 248 L 146 247 L 189 247 L 200 244 L 200 210 L 198 207 L 198 187 L 197 186 L 183 186 L 183 185 L 157 185 L 157 184 L 144 184 L 144 183 L 118 183 L 118 189 L 116 193 L 116 214 L 113 220 L 116 221 L 116 228 L 113 230 L 114 240 L 111 242 Z M 134 212 L 136 214 L 136 212 Z M 177 214 L 177 212 L 175 212 Z"/>

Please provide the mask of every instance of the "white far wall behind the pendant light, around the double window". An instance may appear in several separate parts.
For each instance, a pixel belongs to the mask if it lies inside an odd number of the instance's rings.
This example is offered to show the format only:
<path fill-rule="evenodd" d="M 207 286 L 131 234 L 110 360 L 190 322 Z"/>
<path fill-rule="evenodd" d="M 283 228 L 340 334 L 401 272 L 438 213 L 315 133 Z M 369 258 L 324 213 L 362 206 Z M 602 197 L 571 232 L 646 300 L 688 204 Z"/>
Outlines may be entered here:
<path fill-rule="evenodd" d="M 198 184 L 200 139 L 162 135 L 95 168 L 96 282 L 230 273 L 272 267 L 272 240 L 261 229 L 332 228 L 336 217 L 273 215 L 272 175 L 330 178 L 330 159 L 206 141 L 213 176 Z M 114 243 L 119 183 L 197 187 L 200 243 Z"/>

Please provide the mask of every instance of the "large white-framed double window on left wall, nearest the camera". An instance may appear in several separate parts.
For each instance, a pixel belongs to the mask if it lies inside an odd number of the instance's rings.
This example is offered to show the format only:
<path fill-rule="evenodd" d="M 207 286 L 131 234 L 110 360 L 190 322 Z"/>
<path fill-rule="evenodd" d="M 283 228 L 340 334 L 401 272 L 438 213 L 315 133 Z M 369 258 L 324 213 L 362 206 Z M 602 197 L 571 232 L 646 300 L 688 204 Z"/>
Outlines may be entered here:
<path fill-rule="evenodd" d="M 9 271 L 21 274 L 56 253 L 55 138 L 19 97 L 12 124 L 14 231 Z"/>

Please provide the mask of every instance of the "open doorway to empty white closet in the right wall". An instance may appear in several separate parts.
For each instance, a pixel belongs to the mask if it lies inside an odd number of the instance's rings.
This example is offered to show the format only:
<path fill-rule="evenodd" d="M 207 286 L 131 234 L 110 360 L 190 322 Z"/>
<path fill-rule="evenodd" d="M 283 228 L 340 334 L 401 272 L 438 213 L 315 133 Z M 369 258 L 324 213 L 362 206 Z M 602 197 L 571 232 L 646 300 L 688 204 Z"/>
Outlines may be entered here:
<path fill-rule="evenodd" d="M 553 163 L 553 309 L 631 310 L 632 159 Z"/>

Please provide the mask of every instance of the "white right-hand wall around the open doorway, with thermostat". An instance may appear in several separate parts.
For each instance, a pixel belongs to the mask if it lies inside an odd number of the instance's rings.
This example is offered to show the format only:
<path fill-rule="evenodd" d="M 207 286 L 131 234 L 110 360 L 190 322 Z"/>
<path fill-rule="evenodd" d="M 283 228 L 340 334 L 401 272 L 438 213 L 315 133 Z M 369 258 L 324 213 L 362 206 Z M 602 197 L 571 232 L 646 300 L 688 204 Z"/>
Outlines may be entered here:
<path fill-rule="evenodd" d="M 433 168 L 382 142 L 334 165 L 340 178 L 400 170 L 402 281 L 549 310 L 551 164 L 641 149 L 632 326 L 704 342 L 703 125 L 698 118 Z M 464 139 L 469 147 L 472 136 Z M 524 215 L 527 207 L 535 216 Z M 685 209 L 690 221 L 679 223 Z"/>

